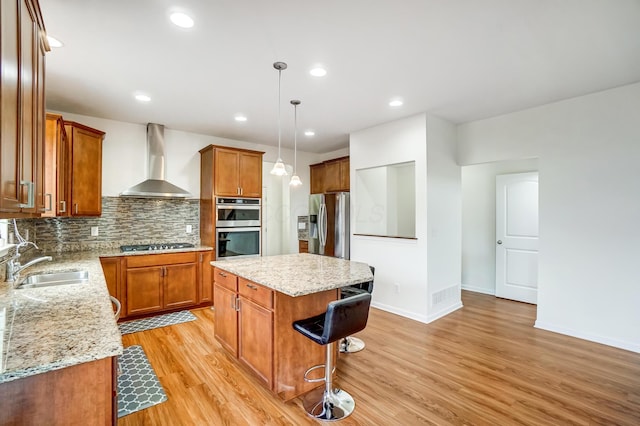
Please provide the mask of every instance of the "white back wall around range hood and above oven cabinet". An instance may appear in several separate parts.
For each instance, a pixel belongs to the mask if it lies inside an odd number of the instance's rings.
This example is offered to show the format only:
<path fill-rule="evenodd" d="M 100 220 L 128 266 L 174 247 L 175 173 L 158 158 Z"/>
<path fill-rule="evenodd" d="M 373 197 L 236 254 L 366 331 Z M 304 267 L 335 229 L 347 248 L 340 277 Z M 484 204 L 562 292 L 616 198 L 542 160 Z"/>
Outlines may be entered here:
<path fill-rule="evenodd" d="M 106 132 L 102 148 L 102 195 L 118 196 L 125 189 L 147 178 L 147 137 L 146 124 L 133 124 L 106 120 L 68 112 L 58 112 L 65 120 L 77 121 Z M 259 145 L 216 136 L 201 135 L 165 128 L 165 149 L 167 154 L 165 178 L 191 192 L 193 198 L 200 197 L 200 149 L 210 145 L 222 145 L 263 151 L 264 168 L 270 167 L 278 155 L 277 146 Z M 337 151 L 340 155 L 344 150 Z M 289 220 L 287 232 L 283 232 L 282 251 L 298 251 L 296 230 L 297 216 L 306 215 L 309 199 L 309 164 L 322 161 L 323 155 L 298 151 L 298 175 L 302 186 L 292 188 L 289 199 Z M 282 149 L 282 159 L 287 165 L 293 164 L 293 150 Z M 267 172 L 269 171 L 267 170 Z M 282 178 L 289 181 L 291 176 Z M 285 182 L 285 183 L 286 183 Z"/>

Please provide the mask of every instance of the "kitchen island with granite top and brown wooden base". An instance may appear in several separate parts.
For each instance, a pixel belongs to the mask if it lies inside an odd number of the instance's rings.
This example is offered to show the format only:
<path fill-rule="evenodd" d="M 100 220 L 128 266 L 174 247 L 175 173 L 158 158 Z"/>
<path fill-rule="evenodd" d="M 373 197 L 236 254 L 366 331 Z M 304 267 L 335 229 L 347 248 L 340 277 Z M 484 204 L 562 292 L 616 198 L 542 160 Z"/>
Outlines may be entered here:
<path fill-rule="evenodd" d="M 325 349 L 292 323 L 326 311 L 339 289 L 373 279 L 366 263 L 308 253 L 213 261 L 215 336 L 248 371 L 288 401 L 321 383 L 305 371 Z"/>

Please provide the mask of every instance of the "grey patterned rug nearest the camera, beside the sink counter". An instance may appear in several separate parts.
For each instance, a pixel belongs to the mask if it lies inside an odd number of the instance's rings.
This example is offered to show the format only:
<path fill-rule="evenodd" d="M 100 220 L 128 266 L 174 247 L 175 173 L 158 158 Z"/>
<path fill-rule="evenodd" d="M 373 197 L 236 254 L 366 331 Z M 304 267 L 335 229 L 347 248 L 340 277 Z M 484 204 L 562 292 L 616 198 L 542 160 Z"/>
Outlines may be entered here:
<path fill-rule="evenodd" d="M 123 354 L 118 357 L 118 364 L 118 417 L 167 400 L 142 346 L 124 348 Z"/>

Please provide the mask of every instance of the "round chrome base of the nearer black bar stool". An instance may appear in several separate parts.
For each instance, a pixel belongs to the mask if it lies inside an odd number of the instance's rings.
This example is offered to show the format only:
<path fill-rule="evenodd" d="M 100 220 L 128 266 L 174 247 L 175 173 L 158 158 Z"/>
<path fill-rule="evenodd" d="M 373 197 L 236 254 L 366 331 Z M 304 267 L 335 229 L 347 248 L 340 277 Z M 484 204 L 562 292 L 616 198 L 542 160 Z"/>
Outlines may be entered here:
<path fill-rule="evenodd" d="M 306 394 L 302 406 L 311 417 L 331 422 L 353 413 L 356 402 L 342 389 L 334 388 L 327 395 L 325 388 L 321 387 Z"/>

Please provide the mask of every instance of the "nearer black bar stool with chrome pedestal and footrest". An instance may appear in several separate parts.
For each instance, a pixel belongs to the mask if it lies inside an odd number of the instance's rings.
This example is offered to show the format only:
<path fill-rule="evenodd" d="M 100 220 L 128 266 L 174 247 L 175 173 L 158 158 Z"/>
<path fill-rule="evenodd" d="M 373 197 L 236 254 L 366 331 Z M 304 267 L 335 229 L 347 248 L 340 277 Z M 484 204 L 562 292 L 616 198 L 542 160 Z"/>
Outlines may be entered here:
<path fill-rule="evenodd" d="M 311 367 L 304 373 L 307 382 L 325 382 L 324 389 L 309 392 L 303 406 L 307 413 L 320 420 L 340 420 L 355 409 L 355 401 L 347 392 L 333 388 L 332 375 L 335 371 L 333 355 L 335 342 L 350 334 L 363 330 L 369 318 L 371 294 L 361 293 L 346 299 L 330 302 L 327 311 L 311 318 L 298 320 L 293 328 L 319 345 L 326 345 L 325 363 Z M 324 377 L 309 379 L 310 372 L 324 367 Z"/>

